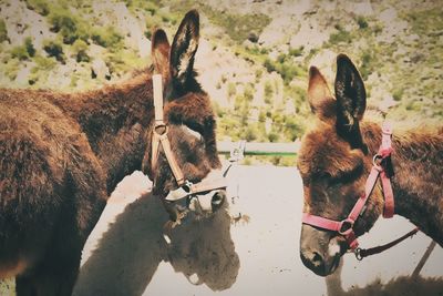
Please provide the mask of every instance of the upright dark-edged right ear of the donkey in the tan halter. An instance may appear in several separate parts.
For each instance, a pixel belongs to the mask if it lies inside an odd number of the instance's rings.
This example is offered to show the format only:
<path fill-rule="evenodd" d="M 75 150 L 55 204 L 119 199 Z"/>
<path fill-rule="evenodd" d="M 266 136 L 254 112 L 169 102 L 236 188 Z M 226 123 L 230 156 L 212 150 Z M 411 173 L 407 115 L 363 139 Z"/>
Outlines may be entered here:
<path fill-rule="evenodd" d="M 174 83 L 183 86 L 193 75 L 198 38 L 199 16 L 196 10 L 190 10 L 178 27 L 171 50 L 171 74 Z"/>

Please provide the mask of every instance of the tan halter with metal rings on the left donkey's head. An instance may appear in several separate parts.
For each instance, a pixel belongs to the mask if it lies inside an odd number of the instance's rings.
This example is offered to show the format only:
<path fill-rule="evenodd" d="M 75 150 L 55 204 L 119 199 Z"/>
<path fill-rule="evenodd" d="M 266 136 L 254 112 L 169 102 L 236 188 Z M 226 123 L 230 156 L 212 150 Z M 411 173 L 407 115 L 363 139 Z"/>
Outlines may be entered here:
<path fill-rule="evenodd" d="M 168 202 L 175 202 L 185 197 L 196 196 L 202 193 L 226 188 L 227 182 L 225 177 L 218 177 L 215 180 L 205 178 L 196 184 L 193 184 L 190 181 L 185 178 L 185 175 L 183 174 L 183 171 L 179 167 L 177 160 L 171 147 L 171 142 L 167 136 L 168 126 L 163 120 L 162 75 L 154 74 L 152 80 L 153 80 L 153 92 L 154 92 L 155 125 L 153 129 L 153 137 L 152 137 L 151 167 L 152 170 L 155 170 L 159 155 L 159 146 L 162 146 L 167 163 L 169 164 L 171 171 L 173 172 L 175 181 L 177 182 L 178 185 L 178 188 L 171 191 L 165 200 Z"/>

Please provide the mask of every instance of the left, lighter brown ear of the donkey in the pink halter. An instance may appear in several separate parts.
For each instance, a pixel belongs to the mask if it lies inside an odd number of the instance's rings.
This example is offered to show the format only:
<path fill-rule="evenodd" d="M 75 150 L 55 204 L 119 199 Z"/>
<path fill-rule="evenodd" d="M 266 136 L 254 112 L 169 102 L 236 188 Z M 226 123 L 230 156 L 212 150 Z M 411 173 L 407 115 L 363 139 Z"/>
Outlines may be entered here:
<path fill-rule="evenodd" d="M 336 118 L 336 99 L 316 67 L 309 69 L 308 100 L 312 113 L 321 121 L 332 122 Z"/>

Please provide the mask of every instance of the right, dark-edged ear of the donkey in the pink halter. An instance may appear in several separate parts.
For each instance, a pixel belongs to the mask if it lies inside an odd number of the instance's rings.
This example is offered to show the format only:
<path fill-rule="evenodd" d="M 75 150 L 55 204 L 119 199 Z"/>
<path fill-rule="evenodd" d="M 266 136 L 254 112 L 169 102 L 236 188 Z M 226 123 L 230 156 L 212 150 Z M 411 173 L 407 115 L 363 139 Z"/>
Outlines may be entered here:
<path fill-rule="evenodd" d="M 346 54 L 337 57 L 337 132 L 352 147 L 365 149 L 359 127 L 367 108 L 367 92 L 356 65 Z"/>

